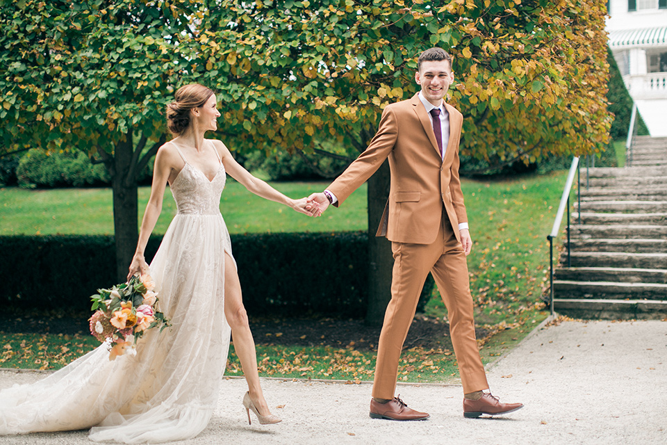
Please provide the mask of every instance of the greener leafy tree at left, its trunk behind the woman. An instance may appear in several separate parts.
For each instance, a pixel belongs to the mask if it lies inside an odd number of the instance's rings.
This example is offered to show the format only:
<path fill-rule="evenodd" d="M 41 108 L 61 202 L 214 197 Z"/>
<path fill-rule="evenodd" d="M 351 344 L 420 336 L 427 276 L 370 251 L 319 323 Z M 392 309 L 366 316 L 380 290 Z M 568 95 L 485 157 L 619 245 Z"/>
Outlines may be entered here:
<path fill-rule="evenodd" d="M 194 6 L 193 6 L 194 5 Z M 117 275 L 138 237 L 137 183 L 165 141 L 196 2 L 22 0 L 0 6 L 1 152 L 81 149 L 113 184 Z"/>

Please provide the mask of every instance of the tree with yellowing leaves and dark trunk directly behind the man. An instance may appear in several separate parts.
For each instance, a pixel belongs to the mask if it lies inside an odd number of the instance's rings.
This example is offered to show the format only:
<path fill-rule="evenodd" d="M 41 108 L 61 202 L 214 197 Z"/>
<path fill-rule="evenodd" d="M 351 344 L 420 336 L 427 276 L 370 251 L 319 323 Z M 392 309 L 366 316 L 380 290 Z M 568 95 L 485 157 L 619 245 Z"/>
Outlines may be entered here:
<path fill-rule="evenodd" d="M 442 3 L 440 3 L 441 5 Z M 322 152 L 365 149 L 381 111 L 415 94 L 416 56 L 454 56 L 450 102 L 465 116 L 461 150 L 500 165 L 604 147 L 610 118 L 604 5 L 595 0 L 256 0 L 208 2 L 193 60 L 222 92 L 238 143 Z M 388 195 L 369 181 L 372 261 L 367 321 L 389 297 L 388 243 L 372 236 Z M 473 232 L 474 232 L 474 222 Z"/>

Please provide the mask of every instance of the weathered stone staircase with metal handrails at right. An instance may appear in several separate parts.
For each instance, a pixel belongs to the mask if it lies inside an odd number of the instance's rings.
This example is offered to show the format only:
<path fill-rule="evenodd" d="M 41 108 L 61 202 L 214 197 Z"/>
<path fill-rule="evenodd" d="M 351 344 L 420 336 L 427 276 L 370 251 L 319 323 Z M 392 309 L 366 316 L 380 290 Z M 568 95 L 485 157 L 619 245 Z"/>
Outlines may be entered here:
<path fill-rule="evenodd" d="M 667 138 L 639 136 L 632 167 L 591 168 L 588 188 L 585 171 L 570 222 L 571 266 L 566 250 L 554 277 L 554 310 L 667 317 Z"/>

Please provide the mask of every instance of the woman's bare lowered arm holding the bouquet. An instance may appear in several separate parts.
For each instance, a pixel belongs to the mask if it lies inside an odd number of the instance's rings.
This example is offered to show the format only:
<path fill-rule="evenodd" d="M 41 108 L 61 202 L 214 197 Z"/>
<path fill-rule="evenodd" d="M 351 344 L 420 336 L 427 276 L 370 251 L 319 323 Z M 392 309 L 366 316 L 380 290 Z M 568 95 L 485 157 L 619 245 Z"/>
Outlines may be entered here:
<path fill-rule="evenodd" d="M 164 147 L 164 145 L 163 145 Z M 132 257 L 130 270 L 127 274 L 129 280 L 132 275 L 136 273 L 146 272 L 148 264 L 144 258 L 144 251 L 148 238 L 151 236 L 153 229 L 158 221 L 158 217 L 162 212 L 162 201 L 165 196 L 165 188 L 167 187 L 167 179 L 169 178 L 171 168 L 170 154 L 166 152 L 163 147 L 158 149 L 155 155 L 155 165 L 153 168 L 153 184 L 151 185 L 151 197 L 146 205 L 144 218 L 141 220 L 141 228 L 139 229 L 139 241 L 137 243 L 137 250 Z"/>

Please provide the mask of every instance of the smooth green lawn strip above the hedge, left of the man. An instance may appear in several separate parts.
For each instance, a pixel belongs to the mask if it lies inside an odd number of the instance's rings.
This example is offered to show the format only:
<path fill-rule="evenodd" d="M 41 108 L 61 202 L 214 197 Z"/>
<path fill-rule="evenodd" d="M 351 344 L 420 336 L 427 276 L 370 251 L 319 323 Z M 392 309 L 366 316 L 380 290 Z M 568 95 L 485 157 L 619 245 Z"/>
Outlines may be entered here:
<path fill-rule="evenodd" d="M 324 190 L 328 183 L 277 182 L 272 186 L 293 198 Z M 138 223 L 146 208 L 150 187 L 139 188 Z M 113 207 L 109 188 L 59 188 L 24 190 L 0 188 L 0 235 L 113 234 Z M 231 233 L 329 232 L 365 230 L 365 185 L 320 218 L 309 218 L 277 202 L 249 193 L 236 181 L 228 181 L 220 211 Z M 167 190 L 154 232 L 164 234 L 176 214 L 176 203 Z"/>

